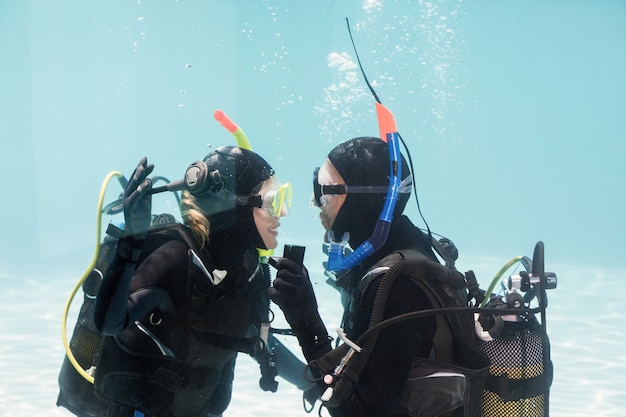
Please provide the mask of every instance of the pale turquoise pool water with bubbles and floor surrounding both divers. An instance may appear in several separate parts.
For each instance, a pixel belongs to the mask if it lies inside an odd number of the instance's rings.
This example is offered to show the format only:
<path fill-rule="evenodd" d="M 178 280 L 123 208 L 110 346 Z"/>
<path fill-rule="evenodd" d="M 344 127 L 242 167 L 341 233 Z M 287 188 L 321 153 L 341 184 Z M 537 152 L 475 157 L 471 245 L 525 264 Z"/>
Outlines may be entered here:
<path fill-rule="evenodd" d="M 551 415 L 626 416 L 619 0 L 0 3 L 0 415 L 70 415 L 54 405 L 61 317 L 93 255 L 102 180 L 144 155 L 182 177 L 209 146 L 234 143 L 216 109 L 293 183 L 280 241 L 307 246 L 322 316 L 339 324 L 311 172 L 337 143 L 377 135 L 345 17 L 460 269 L 486 286 L 545 242 L 559 277 Z M 171 196 L 154 204 L 176 210 Z M 415 204 L 408 214 L 423 225 Z M 226 416 L 304 415 L 295 388 L 265 393 L 258 377 L 242 357 Z"/>

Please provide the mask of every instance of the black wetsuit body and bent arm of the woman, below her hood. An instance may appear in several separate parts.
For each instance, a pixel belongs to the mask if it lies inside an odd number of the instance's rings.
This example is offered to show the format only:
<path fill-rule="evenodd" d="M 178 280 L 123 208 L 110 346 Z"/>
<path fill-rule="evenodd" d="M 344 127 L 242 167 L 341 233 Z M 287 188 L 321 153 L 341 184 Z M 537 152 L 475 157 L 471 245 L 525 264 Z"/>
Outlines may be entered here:
<path fill-rule="evenodd" d="M 237 356 L 231 345 L 253 321 L 258 255 L 212 237 L 192 251 L 173 234 L 156 242 L 149 235 L 144 249 L 152 248 L 136 267 L 114 259 L 95 312 L 96 325 L 111 335 L 96 370 L 96 393 L 115 404 L 109 416 L 137 409 L 147 417 L 205 417 L 227 407 Z"/>

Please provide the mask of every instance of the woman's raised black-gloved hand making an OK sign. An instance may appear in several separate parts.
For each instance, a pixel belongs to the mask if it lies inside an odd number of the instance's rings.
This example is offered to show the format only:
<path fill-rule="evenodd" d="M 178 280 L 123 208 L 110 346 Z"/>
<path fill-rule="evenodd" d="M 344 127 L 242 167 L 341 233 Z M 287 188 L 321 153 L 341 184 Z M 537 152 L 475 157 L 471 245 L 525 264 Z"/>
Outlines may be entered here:
<path fill-rule="evenodd" d="M 152 180 L 148 175 L 154 169 L 147 158 L 141 158 L 124 190 L 122 204 L 126 222 L 126 236 L 142 240 L 146 237 L 152 220 Z"/>

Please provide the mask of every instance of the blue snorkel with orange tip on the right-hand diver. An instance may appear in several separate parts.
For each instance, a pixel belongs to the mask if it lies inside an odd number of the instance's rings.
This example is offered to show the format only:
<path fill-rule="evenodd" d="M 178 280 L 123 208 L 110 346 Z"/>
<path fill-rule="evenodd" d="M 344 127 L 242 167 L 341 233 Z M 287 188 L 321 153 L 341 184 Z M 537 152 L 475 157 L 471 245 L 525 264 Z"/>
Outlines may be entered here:
<path fill-rule="evenodd" d="M 354 268 L 380 249 L 389 236 L 389 229 L 393 221 L 393 211 L 400 196 L 400 185 L 402 183 L 400 142 L 396 122 L 389 109 L 377 102 L 376 114 L 378 115 L 380 137 L 383 142 L 387 142 L 387 148 L 389 149 L 389 186 L 387 187 L 385 204 L 380 212 L 380 216 L 378 216 L 372 235 L 347 256 L 344 256 L 344 248 L 348 243 L 349 234 L 345 233 L 342 240 L 336 242 L 333 232 L 328 232 L 328 241 L 330 242 L 328 264 L 326 266 L 328 271 L 338 272 Z"/>

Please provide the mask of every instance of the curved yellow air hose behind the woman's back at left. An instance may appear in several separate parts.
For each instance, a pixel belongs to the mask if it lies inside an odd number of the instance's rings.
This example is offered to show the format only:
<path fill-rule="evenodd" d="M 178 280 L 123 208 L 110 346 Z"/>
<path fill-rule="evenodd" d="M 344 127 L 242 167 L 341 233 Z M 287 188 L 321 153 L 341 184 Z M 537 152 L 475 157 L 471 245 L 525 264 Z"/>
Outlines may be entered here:
<path fill-rule="evenodd" d="M 83 285 L 83 282 L 85 282 L 85 280 L 87 279 L 91 271 L 93 271 L 93 269 L 95 268 L 96 262 L 98 261 L 98 256 L 100 255 L 100 240 L 101 240 L 101 235 L 102 235 L 102 206 L 104 203 L 104 195 L 106 193 L 107 187 L 111 179 L 121 178 L 121 177 L 122 177 L 122 174 L 120 172 L 112 171 L 106 176 L 106 178 L 102 182 L 102 187 L 100 188 L 100 197 L 98 198 L 98 213 L 97 213 L 97 220 L 96 220 L 96 250 L 93 255 L 93 259 L 91 260 L 91 263 L 87 267 L 87 270 L 85 271 L 83 276 L 78 280 L 78 282 L 74 286 L 74 289 L 72 289 L 72 292 L 70 293 L 67 303 L 65 304 L 65 310 L 63 311 L 63 319 L 61 323 L 62 325 L 61 337 L 63 338 L 63 346 L 65 347 L 65 353 L 67 354 L 67 358 L 74 366 L 74 369 L 76 369 L 76 372 L 78 372 L 83 378 L 85 378 L 87 381 L 91 382 L 92 384 L 94 382 L 93 376 L 88 374 L 87 371 L 85 371 L 80 366 L 80 364 L 74 357 L 74 354 L 72 353 L 72 350 L 70 348 L 69 341 L 67 340 L 67 316 L 70 310 L 70 306 L 72 305 L 72 301 L 74 300 L 74 297 L 76 296 L 76 293 L 78 292 L 81 285 Z"/>

